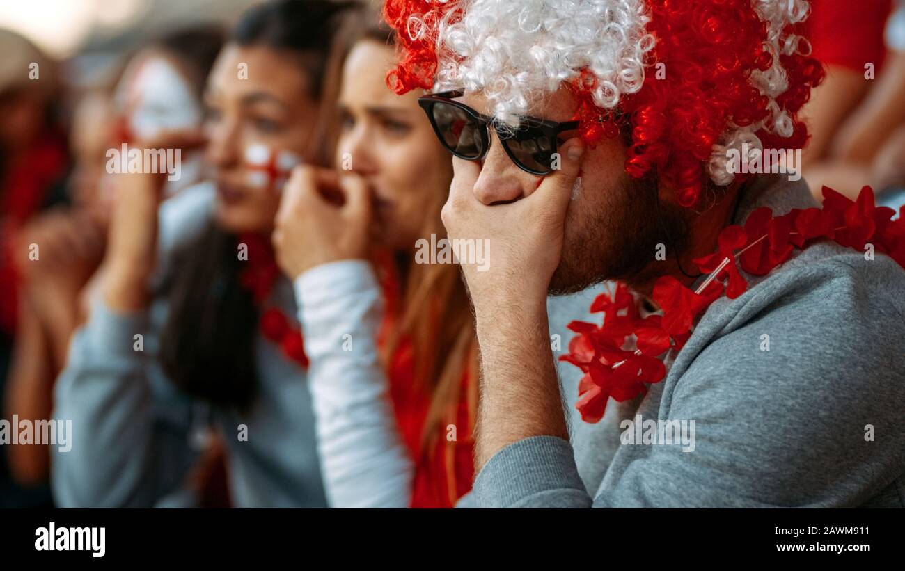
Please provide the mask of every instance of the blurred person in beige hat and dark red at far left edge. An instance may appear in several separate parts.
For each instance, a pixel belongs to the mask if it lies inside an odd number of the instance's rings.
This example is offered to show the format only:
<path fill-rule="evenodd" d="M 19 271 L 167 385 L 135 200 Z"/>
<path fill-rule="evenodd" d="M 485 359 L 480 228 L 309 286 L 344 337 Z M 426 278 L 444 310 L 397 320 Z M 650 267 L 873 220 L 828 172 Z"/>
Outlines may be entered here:
<path fill-rule="evenodd" d="M 32 42 L 0 30 L 0 402 L 14 352 L 30 334 L 18 323 L 19 261 L 30 250 L 14 249 L 23 225 L 39 211 L 64 201 L 62 179 L 69 158 L 58 125 L 55 64 Z M 0 505 L 47 505 L 45 488 L 17 485 L 7 465 L 11 446 L 0 448 Z"/>

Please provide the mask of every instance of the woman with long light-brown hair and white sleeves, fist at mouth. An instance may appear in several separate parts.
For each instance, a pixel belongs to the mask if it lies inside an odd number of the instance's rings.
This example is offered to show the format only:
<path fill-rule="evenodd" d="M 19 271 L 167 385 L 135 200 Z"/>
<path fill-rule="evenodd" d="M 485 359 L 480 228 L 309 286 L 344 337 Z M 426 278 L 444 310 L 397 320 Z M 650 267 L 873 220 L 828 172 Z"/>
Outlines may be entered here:
<path fill-rule="evenodd" d="M 472 487 L 472 313 L 458 266 L 417 254 L 446 236 L 452 164 L 416 94 L 387 88 L 389 28 L 351 20 L 330 74 L 337 170 L 293 173 L 277 259 L 300 307 L 330 505 L 452 507 Z"/>

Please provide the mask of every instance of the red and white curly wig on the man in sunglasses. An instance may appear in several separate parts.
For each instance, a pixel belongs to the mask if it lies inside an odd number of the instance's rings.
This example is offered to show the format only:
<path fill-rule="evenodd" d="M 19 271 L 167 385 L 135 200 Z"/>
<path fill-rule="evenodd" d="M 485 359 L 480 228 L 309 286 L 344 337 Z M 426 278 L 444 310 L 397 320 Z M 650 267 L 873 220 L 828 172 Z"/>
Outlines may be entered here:
<path fill-rule="evenodd" d="M 681 204 L 727 185 L 727 151 L 800 148 L 797 113 L 824 70 L 795 34 L 805 0 L 386 0 L 401 61 L 387 82 L 481 92 L 518 126 L 562 84 L 594 145 L 630 121 L 627 173 L 655 170 Z M 663 65 L 660 65 L 660 64 Z"/>

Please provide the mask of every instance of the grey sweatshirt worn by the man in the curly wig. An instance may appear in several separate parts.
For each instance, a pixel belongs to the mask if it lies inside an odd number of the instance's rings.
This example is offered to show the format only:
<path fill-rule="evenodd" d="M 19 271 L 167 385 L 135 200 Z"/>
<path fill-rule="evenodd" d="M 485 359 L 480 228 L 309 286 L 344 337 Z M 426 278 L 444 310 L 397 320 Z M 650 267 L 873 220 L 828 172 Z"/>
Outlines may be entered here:
<path fill-rule="evenodd" d="M 778 177 L 747 198 L 738 223 L 759 206 L 816 205 L 803 181 Z M 710 305 L 640 403 L 611 400 L 596 425 L 573 414 L 571 443 L 503 448 L 462 504 L 903 507 L 905 271 L 821 241 L 745 277 L 748 291 Z M 551 325 L 571 319 L 600 314 L 551 314 Z M 582 373 L 558 370 L 574 407 Z"/>

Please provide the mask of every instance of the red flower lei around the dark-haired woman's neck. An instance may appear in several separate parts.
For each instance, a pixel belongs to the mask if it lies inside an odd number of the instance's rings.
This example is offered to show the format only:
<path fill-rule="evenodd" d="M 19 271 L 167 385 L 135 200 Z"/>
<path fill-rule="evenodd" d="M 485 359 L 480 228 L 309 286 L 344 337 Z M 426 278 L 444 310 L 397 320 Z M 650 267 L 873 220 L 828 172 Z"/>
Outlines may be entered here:
<path fill-rule="evenodd" d="M 239 242 L 248 247 L 248 260 L 239 276 L 242 286 L 252 293 L 254 304 L 259 307 L 267 301 L 273 284 L 280 277 L 280 267 L 273 257 L 273 248 L 268 239 L 257 234 L 244 234 Z M 277 307 L 266 307 L 261 312 L 259 322 L 263 336 L 280 346 L 287 359 L 308 368 L 308 356 L 301 338 L 301 328 Z"/>

